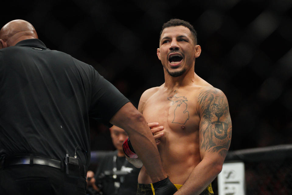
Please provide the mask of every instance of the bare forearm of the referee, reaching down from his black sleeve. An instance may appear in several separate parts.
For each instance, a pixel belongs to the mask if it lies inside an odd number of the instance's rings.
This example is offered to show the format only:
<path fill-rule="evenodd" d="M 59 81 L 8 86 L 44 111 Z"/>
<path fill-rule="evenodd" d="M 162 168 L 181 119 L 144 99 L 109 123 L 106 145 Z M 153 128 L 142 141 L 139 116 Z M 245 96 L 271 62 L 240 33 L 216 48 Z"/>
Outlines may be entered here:
<path fill-rule="evenodd" d="M 155 140 L 143 115 L 131 103 L 127 103 L 110 122 L 127 132 L 135 153 L 147 169 L 152 182 L 165 179 L 167 176 L 162 168 Z"/>

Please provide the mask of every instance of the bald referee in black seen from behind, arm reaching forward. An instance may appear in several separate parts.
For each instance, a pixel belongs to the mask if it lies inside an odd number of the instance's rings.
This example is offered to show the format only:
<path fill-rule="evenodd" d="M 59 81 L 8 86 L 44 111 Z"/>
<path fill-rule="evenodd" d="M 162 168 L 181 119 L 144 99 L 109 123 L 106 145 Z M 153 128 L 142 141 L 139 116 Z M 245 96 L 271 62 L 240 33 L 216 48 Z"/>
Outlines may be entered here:
<path fill-rule="evenodd" d="M 152 181 L 165 181 L 151 131 L 127 98 L 92 66 L 48 49 L 30 23 L 2 27 L 0 193 L 85 194 L 89 118 L 123 128 Z"/>

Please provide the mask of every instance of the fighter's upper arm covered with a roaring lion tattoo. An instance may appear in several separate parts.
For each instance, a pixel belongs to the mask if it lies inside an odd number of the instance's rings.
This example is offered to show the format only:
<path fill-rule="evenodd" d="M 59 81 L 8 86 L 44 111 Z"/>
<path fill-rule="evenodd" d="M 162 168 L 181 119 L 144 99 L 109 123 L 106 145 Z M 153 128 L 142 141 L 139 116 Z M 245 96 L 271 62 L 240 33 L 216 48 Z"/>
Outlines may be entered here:
<path fill-rule="evenodd" d="M 228 101 L 221 90 L 210 87 L 200 92 L 200 152 L 215 152 L 225 158 L 231 142 L 231 118 Z"/>

